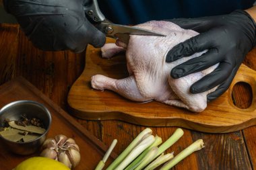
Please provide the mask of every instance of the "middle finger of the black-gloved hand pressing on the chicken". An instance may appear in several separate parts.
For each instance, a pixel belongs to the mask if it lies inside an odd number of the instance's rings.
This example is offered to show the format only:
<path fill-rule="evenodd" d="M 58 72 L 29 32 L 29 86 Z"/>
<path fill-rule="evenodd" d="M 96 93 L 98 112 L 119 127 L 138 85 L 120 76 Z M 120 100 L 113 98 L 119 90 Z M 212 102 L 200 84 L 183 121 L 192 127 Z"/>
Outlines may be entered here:
<path fill-rule="evenodd" d="M 220 62 L 220 60 L 218 60 L 218 55 L 218 51 L 212 48 L 201 56 L 187 60 L 186 62 L 183 62 L 183 64 L 174 67 L 170 72 L 170 75 L 172 78 L 177 79 L 191 73 L 203 71 Z"/>

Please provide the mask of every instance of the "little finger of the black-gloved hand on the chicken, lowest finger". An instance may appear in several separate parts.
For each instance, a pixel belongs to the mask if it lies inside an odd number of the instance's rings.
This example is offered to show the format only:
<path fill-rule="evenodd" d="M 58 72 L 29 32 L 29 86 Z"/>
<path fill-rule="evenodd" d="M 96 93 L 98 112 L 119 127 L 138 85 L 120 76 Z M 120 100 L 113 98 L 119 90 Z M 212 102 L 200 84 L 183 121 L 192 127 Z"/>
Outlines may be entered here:
<path fill-rule="evenodd" d="M 213 91 L 212 93 L 209 93 L 207 95 L 207 102 L 216 99 L 217 97 L 222 95 L 228 89 L 228 87 L 232 83 L 232 80 L 234 79 L 235 73 L 236 72 L 233 71 L 232 75 L 230 75 L 230 77 L 228 77 L 228 79 L 226 79 L 226 81 L 224 81 L 224 83 L 222 83 L 215 91 Z"/>

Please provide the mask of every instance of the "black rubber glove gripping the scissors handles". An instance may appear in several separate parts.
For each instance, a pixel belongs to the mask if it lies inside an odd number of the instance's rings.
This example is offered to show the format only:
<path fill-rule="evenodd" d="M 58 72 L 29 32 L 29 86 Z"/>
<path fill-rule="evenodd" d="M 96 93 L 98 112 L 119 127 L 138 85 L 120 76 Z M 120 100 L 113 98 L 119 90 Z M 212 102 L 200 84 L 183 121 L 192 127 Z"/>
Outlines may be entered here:
<path fill-rule="evenodd" d="M 103 46 L 106 37 L 86 19 L 88 0 L 5 0 L 26 36 L 41 50 L 82 52 Z"/>

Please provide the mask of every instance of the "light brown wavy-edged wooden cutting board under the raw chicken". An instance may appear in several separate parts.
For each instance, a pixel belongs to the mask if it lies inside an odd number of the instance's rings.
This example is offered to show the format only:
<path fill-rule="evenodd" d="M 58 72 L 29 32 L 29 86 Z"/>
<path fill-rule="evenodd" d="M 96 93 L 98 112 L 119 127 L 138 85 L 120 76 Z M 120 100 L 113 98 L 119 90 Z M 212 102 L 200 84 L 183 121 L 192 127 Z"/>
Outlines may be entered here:
<path fill-rule="evenodd" d="M 113 40 L 108 39 L 107 42 Z M 90 79 L 93 75 L 114 79 L 128 76 L 124 56 L 101 58 L 99 48 L 88 46 L 86 67 L 72 85 L 67 99 L 73 116 L 86 120 L 123 120 L 143 126 L 181 126 L 214 133 L 233 132 L 256 124 L 256 72 L 245 65 L 241 66 L 226 93 L 208 103 L 203 112 L 193 113 L 157 101 L 137 103 L 113 91 L 92 89 Z M 249 83 L 253 93 L 252 104 L 247 109 L 237 108 L 232 102 L 232 89 L 241 81 Z"/>

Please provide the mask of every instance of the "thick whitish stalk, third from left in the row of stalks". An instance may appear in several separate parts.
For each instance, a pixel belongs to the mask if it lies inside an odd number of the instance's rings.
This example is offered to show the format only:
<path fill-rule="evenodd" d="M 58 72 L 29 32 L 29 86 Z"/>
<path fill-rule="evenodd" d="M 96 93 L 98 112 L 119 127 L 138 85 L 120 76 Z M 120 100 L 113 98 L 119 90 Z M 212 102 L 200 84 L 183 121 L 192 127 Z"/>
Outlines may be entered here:
<path fill-rule="evenodd" d="M 143 139 L 127 157 L 115 168 L 115 170 L 123 170 L 129 163 L 131 163 L 139 154 L 141 154 L 148 146 L 150 146 L 155 140 L 153 135 L 148 136 L 147 138 Z"/>

